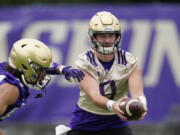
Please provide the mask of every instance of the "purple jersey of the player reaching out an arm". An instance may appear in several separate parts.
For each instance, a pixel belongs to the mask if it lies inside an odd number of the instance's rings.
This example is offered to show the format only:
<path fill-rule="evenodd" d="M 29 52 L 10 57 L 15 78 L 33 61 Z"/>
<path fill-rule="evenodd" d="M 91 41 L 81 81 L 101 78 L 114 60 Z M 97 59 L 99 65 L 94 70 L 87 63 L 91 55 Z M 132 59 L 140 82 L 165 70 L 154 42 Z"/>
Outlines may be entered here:
<path fill-rule="evenodd" d="M 0 121 L 9 117 L 17 108 L 24 105 L 29 97 L 28 87 L 23 85 L 19 78 L 16 78 L 7 71 L 7 64 L 7 62 L 0 63 L 0 85 L 10 83 L 17 86 L 19 90 L 19 97 L 14 104 L 8 106 L 6 111 L 0 115 Z"/>

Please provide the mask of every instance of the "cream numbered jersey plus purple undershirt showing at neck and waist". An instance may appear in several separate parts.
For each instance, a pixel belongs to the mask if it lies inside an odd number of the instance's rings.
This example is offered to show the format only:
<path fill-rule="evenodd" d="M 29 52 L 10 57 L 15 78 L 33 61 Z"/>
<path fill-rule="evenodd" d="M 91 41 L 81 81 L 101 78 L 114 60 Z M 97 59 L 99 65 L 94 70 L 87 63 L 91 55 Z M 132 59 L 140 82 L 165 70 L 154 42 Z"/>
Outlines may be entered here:
<path fill-rule="evenodd" d="M 137 66 L 137 58 L 119 49 L 113 60 L 102 62 L 94 50 L 80 54 L 76 66 L 91 74 L 99 83 L 101 95 L 117 101 L 128 94 L 128 78 Z M 80 88 L 78 105 L 70 127 L 77 130 L 104 130 L 127 125 L 113 111 L 95 105 Z"/>

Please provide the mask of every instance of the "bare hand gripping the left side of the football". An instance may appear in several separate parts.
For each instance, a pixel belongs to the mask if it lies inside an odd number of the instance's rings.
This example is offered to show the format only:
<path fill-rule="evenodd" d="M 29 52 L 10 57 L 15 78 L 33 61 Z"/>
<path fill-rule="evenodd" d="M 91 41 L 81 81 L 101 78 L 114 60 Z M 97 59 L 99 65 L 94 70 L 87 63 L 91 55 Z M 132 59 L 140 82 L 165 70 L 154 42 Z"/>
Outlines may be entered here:
<path fill-rule="evenodd" d="M 116 113 L 116 115 L 117 115 L 120 119 L 122 119 L 122 120 L 124 120 L 124 121 L 128 121 L 128 119 L 124 116 L 125 113 L 124 113 L 123 110 L 120 109 L 119 104 L 120 104 L 122 101 L 126 100 L 126 99 L 128 99 L 128 97 L 123 97 L 123 98 L 119 99 L 118 101 L 116 101 L 116 102 L 113 104 L 113 111 Z"/>

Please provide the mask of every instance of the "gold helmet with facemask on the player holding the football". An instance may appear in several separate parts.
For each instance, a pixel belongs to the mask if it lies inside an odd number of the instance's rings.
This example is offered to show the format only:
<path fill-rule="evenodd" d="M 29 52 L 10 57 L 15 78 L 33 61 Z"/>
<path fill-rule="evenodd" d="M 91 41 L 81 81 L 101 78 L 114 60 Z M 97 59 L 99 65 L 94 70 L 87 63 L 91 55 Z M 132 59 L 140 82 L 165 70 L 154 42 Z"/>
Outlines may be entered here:
<path fill-rule="evenodd" d="M 121 29 L 119 20 L 110 12 L 96 13 L 89 21 L 89 38 L 92 48 L 104 55 L 111 55 L 119 47 Z M 97 34 L 115 34 L 116 40 L 112 43 L 102 43 L 96 40 Z M 109 44 L 106 46 L 105 44 Z"/>

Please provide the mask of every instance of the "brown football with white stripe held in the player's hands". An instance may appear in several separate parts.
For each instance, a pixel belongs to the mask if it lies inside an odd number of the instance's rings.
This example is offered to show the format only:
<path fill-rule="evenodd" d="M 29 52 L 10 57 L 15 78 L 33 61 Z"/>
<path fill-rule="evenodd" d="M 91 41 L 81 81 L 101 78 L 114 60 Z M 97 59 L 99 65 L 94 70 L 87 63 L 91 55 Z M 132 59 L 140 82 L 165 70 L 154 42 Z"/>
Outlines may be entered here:
<path fill-rule="evenodd" d="M 132 98 L 122 101 L 119 105 L 120 109 L 124 111 L 125 117 L 128 120 L 138 120 L 145 112 L 143 104 L 139 99 Z"/>

